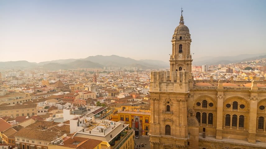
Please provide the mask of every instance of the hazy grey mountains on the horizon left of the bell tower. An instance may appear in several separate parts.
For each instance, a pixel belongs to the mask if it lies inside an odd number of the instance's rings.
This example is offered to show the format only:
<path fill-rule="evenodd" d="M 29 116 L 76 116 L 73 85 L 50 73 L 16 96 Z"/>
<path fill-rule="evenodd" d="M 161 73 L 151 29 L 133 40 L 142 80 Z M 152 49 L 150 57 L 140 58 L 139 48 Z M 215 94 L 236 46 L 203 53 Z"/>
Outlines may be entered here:
<path fill-rule="evenodd" d="M 27 61 L 11 61 L 0 62 L 2 69 L 29 69 L 44 68 L 48 70 L 58 69 L 75 69 L 75 68 L 103 68 L 108 67 L 138 67 L 141 69 L 159 69 L 167 68 L 167 62 L 158 60 L 135 60 L 129 57 L 111 56 L 89 56 L 81 59 L 60 59 L 46 62 L 27 62 Z"/>

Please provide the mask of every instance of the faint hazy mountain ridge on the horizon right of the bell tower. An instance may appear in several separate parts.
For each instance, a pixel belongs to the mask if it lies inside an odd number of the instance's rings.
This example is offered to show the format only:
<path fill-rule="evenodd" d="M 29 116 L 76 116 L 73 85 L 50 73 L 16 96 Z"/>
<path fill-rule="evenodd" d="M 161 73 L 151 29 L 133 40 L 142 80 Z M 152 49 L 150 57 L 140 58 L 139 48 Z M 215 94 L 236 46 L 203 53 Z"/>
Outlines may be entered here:
<path fill-rule="evenodd" d="M 266 58 L 266 53 L 260 54 L 241 54 L 237 56 L 219 56 L 219 57 L 200 57 L 192 62 L 193 65 L 218 65 L 246 62 L 256 60 L 260 58 Z"/>

